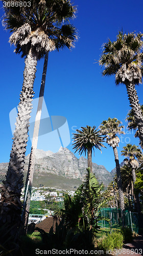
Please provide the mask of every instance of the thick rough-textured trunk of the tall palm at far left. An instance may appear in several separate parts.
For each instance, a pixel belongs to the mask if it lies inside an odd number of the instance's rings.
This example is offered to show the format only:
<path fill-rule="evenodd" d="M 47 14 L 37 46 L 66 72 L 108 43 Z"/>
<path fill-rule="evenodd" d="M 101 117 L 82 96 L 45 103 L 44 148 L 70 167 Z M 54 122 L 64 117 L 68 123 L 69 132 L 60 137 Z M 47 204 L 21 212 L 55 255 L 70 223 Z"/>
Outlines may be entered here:
<path fill-rule="evenodd" d="M 21 202 L 20 195 L 23 187 L 23 168 L 28 141 L 29 119 L 32 109 L 33 83 L 35 79 L 37 57 L 30 51 L 25 59 L 23 72 L 23 86 L 18 104 L 18 116 L 13 135 L 13 144 L 6 181 L 2 185 L 2 198 L 0 204 L 1 223 L 15 225 L 11 231 L 16 233 L 20 225 Z"/>

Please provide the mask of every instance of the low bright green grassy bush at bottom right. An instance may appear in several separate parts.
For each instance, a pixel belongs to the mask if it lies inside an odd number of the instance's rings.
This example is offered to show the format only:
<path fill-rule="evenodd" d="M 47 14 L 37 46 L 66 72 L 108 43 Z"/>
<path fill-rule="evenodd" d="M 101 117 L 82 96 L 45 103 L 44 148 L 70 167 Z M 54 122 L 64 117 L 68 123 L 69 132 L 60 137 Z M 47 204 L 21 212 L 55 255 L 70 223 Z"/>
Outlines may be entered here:
<path fill-rule="evenodd" d="M 104 236 L 97 241 L 97 247 L 104 251 L 120 249 L 123 247 L 123 234 L 117 231 L 113 231 L 111 234 L 104 234 Z"/>

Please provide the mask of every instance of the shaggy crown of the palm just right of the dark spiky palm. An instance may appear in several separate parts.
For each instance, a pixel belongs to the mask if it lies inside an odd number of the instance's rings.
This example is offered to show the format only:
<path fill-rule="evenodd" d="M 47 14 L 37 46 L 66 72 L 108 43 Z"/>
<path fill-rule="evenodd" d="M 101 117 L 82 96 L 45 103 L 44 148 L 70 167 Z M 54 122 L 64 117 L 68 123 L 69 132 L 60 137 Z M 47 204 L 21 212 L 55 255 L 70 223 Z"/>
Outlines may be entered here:
<path fill-rule="evenodd" d="M 120 125 L 121 121 L 117 118 L 108 118 L 108 120 L 104 120 L 100 125 L 100 130 L 103 135 L 106 136 L 106 142 L 112 146 L 118 146 L 120 139 L 117 137 L 118 134 L 124 134 L 122 129 L 124 128 L 123 125 Z"/>

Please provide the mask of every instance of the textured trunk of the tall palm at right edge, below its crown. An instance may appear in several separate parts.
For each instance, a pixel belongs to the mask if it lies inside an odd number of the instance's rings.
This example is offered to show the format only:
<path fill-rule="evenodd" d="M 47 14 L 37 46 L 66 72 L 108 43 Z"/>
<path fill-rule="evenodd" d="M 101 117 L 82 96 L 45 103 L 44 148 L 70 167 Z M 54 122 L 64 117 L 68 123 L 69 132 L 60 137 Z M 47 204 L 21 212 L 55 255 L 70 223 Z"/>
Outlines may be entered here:
<path fill-rule="evenodd" d="M 143 116 L 141 112 L 141 107 L 139 104 L 137 92 L 135 90 L 135 85 L 133 83 L 127 83 L 126 89 L 128 93 L 128 98 L 130 101 L 130 106 L 134 112 L 134 117 L 137 123 L 138 132 L 139 132 L 139 139 L 141 141 L 141 147 L 143 148 Z"/>

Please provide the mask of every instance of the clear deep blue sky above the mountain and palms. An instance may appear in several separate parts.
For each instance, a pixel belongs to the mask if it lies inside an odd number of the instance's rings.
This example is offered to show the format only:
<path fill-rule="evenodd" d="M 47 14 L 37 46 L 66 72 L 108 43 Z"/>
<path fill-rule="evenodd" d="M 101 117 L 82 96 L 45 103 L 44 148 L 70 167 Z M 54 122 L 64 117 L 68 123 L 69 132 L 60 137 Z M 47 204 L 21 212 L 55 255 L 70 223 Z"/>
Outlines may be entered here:
<path fill-rule="evenodd" d="M 135 5 L 132 0 L 96 1 L 75 0 L 78 12 L 73 20 L 79 32 L 79 40 L 72 51 L 64 49 L 49 54 L 44 99 L 49 115 L 64 116 L 67 119 L 70 137 L 81 126 L 97 127 L 108 117 L 116 117 L 124 125 L 130 110 L 126 88 L 123 84 L 115 86 L 114 77 L 102 77 L 102 70 L 97 60 L 102 53 L 102 45 L 115 40 L 119 30 L 124 32 L 142 32 L 142 0 Z M 0 16 L 3 15 L 2 2 Z M 13 53 L 14 47 L 8 40 L 10 33 L 0 27 L 1 31 L 1 153 L 0 162 L 8 162 L 12 133 L 9 113 L 19 102 L 22 88 L 24 59 Z M 39 95 L 43 68 L 43 60 L 37 65 L 34 82 L 35 98 Z M 142 84 L 136 87 L 139 101 L 142 104 Z M 127 130 L 125 129 L 125 132 Z M 138 144 L 133 134 L 124 135 L 118 153 L 120 162 L 123 157 L 120 151 L 126 143 Z M 72 139 L 71 139 L 72 141 Z M 45 141 L 48 147 L 48 141 Z M 115 167 L 113 150 L 108 145 L 102 154 L 95 150 L 93 162 L 104 165 L 109 172 Z M 67 146 L 72 150 L 71 142 Z M 31 142 L 28 143 L 27 154 L 30 153 Z M 74 151 L 73 151 L 74 152 Z M 78 154 L 76 154 L 79 157 Z"/>

